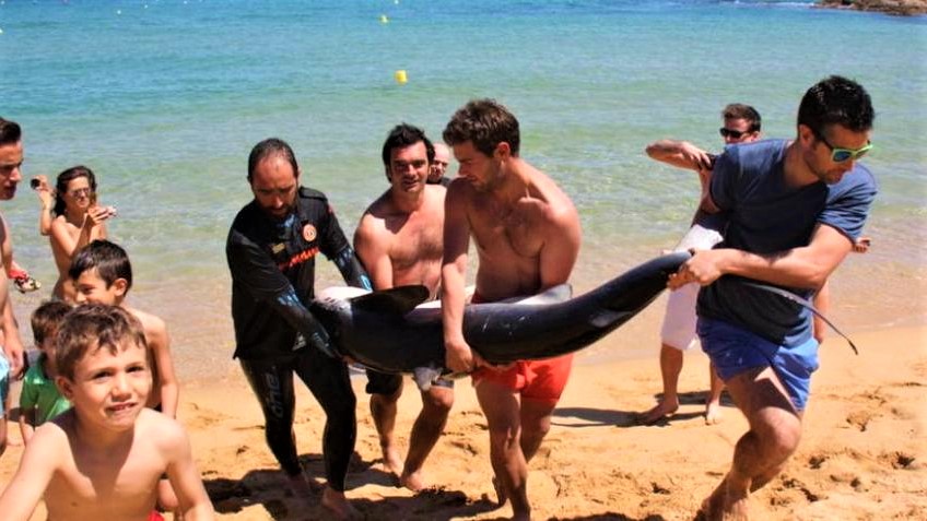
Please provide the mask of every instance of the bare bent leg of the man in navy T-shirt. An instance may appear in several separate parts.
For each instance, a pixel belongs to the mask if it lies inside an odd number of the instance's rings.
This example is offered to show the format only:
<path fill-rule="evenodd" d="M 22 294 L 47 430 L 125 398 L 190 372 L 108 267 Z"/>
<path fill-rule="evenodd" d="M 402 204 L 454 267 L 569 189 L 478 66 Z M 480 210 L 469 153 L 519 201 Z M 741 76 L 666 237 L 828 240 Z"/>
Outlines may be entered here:
<path fill-rule="evenodd" d="M 727 380 L 750 430 L 737 442 L 731 469 L 703 505 L 707 519 L 747 519 L 748 498 L 775 477 L 801 438 L 801 418 L 772 368 Z"/>

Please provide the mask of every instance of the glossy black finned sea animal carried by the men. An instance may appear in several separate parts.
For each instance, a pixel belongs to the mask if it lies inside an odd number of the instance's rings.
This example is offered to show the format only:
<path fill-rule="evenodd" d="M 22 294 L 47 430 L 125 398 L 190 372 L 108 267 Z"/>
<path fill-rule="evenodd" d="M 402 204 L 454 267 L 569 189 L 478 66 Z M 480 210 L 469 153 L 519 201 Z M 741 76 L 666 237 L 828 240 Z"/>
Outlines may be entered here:
<path fill-rule="evenodd" d="M 676 252 L 645 262 L 575 298 L 568 285 L 518 301 L 471 304 L 464 338 L 492 364 L 551 358 L 582 350 L 647 307 L 690 258 Z M 341 355 L 382 372 L 412 374 L 422 389 L 449 372 L 438 303 L 421 305 L 424 286 L 400 286 L 353 298 L 322 292 L 310 310 Z M 421 306 L 419 306 L 421 305 Z"/>

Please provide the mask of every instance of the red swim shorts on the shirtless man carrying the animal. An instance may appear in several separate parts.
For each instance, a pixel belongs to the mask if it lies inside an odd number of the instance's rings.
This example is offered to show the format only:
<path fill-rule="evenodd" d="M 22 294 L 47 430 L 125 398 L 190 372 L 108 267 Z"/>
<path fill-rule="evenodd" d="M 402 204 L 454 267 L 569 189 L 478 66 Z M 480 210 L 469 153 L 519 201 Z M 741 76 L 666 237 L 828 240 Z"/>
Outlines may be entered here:
<path fill-rule="evenodd" d="M 570 353 L 545 360 L 516 362 L 514 366 L 502 371 L 481 367 L 471 376 L 474 386 L 481 381 L 492 381 L 521 393 L 523 399 L 553 405 L 563 394 L 572 368 L 573 353 Z"/>

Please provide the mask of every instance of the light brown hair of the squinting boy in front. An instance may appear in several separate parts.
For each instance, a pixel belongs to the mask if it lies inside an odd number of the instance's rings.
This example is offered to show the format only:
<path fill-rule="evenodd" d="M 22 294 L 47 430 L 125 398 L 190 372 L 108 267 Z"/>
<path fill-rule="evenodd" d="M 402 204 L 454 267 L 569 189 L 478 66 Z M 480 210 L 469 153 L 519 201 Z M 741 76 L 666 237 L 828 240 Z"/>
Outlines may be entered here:
<path fill-rule="evenodd" d="M 112 354 L 129 347 L 145 350 L 151 367 L 151 352 L 141 322 L 119 306 L 82 304 L 69 312 L 55 336 L 55 363 L 58 374 L 74 379 L 78 363 L 91 352 L 108 350 Z"/>

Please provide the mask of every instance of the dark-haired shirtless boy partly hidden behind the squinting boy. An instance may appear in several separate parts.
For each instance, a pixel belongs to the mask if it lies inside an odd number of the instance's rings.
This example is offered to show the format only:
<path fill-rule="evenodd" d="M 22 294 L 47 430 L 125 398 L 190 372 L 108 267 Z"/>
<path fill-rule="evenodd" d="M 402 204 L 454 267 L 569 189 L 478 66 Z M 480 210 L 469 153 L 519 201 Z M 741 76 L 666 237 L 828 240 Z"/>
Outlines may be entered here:
<path fill-rule="evenodd" d="M 126 250 L 105 239 L 94 240 L 74 254 L 68 275 L 74 283 L 78 304 L 119 306 L 141 322 L 154 360 L 151 367 L 152 392 L 145 405 L 176 418 L 180 392 L 174 374 L 167 325 L 161 318 L 125 304 L 132 287 L 132 264 Z M 167 479 L 161 481 L 159 505 L 165 510 L 176 511 L 177 498 Z"/>

